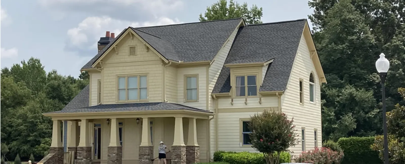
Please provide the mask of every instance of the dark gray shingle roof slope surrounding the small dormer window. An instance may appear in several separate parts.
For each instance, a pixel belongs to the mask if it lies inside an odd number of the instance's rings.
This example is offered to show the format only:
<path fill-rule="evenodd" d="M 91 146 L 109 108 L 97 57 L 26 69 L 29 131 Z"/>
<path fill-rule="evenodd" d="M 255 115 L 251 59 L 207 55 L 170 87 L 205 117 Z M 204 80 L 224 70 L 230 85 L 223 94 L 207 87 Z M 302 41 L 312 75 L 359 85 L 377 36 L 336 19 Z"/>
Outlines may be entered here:
<path fill-rule="evenodd" d="M 225 64 L 274 59 L 259 90 L 285 90 L 306 22 L 299 19 L 241 27 Z M 212 93 L 228 93 L 230 88 L 230 69 L 223 66 Z"/>

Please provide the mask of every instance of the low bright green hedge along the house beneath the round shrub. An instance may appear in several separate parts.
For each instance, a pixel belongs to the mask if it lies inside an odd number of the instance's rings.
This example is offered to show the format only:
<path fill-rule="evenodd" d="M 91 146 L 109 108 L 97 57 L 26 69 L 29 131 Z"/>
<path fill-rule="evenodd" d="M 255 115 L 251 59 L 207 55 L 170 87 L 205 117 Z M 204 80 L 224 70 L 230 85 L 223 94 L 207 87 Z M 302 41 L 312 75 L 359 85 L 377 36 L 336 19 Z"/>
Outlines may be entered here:
<path fill-rule="evenodd" d="M 290 161 L 290 153 L 281 152 L 280 163 L 288 163 Z M 214 153 L 214 162 L 227 162 L 229 164 L 265 164 L 266 160 L 264 160 L 262 153 L 216 151 Z"/>

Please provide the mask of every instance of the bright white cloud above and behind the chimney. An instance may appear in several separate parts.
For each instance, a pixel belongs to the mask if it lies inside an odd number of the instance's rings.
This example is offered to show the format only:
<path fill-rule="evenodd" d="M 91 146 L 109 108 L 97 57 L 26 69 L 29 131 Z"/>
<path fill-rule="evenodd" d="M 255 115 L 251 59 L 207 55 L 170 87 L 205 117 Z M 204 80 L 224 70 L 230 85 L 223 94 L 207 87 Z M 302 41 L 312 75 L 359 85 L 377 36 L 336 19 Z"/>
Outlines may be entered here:
<path fill-rule="evenodd" d="M 114 32 L 117 36 L 128 26 L 143 27 L 153 25 L 168 25 L 181 23 L 178 19 L 160 17 L 153 21 L 130 22 L 113 19 L 111 17 L 87 17 L 77 27 L 68 29 L 68 41 L 66 48 L 69 50 L 92 50 L 96 49 L 97 41 L 105 35 L 106 31 Z M 94 51 L 96 52 L 96 51 Z"/>

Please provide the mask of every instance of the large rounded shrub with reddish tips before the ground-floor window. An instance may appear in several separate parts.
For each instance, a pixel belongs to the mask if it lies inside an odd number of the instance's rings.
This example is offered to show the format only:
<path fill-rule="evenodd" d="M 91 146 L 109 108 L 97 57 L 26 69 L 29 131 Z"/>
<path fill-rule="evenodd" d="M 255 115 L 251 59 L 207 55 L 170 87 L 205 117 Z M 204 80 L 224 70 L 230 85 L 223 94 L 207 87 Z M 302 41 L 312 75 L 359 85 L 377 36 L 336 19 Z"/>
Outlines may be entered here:
<path fill-rule="evenodd" d="M 293 120 L 284 113 L 267 110 L 250 118 L 252 147 L 263 153 L 267 164 L 278 164 L 281 152 L 296 145 Z"/>

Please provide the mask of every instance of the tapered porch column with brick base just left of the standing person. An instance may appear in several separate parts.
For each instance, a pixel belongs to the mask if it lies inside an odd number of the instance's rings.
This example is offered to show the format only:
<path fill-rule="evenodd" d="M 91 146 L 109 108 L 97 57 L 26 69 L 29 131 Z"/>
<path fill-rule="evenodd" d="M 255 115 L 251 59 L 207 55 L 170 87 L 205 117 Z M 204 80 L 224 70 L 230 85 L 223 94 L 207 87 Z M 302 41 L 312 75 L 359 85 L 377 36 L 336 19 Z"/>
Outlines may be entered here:
<path fill-rule="evenodd" d="M 153 164 L 153 146 L 149 118 L 142 118 L 142 138 L 139 146 L 139 164 Z"/>

